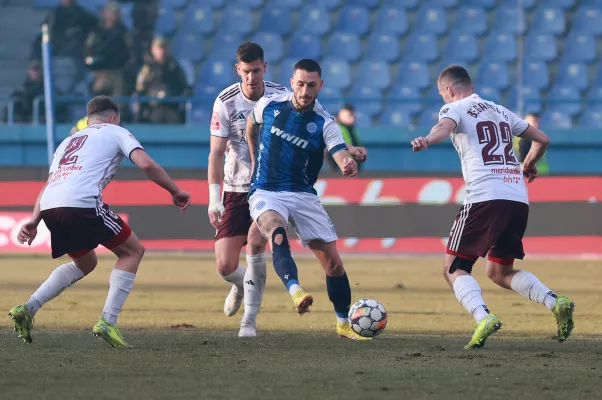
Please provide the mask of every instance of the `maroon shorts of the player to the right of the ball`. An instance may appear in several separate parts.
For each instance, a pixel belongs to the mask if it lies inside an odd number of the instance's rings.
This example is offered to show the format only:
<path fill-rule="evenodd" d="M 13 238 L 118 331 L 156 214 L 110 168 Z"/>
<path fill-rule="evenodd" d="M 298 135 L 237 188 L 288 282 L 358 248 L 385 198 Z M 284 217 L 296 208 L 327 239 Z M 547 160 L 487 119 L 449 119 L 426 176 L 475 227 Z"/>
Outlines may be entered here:
<path fill-rule="evenodd" d="M 525 256 L 523 236 L 529 205 L 511 200 L 464 204 L 454 221 L 447 254 L 472 261 L 487 256 L 500 264 L 511 264 Z"/>

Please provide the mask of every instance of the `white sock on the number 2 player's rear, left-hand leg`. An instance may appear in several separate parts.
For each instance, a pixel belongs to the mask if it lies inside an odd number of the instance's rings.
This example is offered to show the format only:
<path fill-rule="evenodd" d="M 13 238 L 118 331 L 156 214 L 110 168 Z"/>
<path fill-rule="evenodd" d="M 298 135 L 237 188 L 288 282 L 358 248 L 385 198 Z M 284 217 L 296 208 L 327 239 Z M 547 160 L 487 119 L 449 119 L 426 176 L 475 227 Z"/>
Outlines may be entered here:
<path fill-rule="evenodd" d="M 74 262 L 58 266 L 25 303 L 27 314 L 33 317 L 45 303 L 63 293 L 63 290 L 83 277 L 84 273 L 75 266 Z"/>

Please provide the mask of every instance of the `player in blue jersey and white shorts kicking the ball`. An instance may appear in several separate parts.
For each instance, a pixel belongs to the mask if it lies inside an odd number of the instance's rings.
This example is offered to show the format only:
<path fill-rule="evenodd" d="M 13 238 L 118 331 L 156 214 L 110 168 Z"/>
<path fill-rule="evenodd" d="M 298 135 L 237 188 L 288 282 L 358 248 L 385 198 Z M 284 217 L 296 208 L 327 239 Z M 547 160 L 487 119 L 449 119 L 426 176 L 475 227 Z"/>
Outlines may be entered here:
<path fill-rule="evenodd" d="M 287 221 L 296 228 L 326 272 L 328 297 L 341 337 L 363 340 L 349 325 L 351 288 L 337 251 L 337 235 L 316 195 L 314 183 L 322 168 L 324 149 L 346 176 L 357 174 L 334 119 L 316 100 L 324 81 L 318 63 L 299 61 L 294 68 L 293 93 L 264 97 L 247 122 L 247 138 L 254 163 L 251 180 L 251 216 L 270 242 L 274 269 L 293 298 L 299 314 L 309 311 L 313 297 L 301 288 L 291 257 Z M 261 126 L 261 128 L 260 128 Z M 365 160 L 365 150 L 350 150 Z"/>

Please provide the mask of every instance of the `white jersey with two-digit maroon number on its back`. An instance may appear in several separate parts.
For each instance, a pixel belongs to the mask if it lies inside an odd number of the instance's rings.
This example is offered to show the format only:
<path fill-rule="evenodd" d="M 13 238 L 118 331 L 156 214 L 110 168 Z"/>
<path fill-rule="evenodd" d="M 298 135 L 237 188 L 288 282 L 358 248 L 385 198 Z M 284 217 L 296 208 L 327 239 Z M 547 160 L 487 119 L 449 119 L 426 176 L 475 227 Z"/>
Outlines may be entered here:
<path fill-rule="evenodd" d="M 464 203 L 513 200 L 529 204 L 520 163 L 512 149 L 513 136 L 522 135 L 529 124 L 477 94 L 444 105 L 439 120 L 443 118 L 456 123 L 450 137 L 462 160 Z"/>

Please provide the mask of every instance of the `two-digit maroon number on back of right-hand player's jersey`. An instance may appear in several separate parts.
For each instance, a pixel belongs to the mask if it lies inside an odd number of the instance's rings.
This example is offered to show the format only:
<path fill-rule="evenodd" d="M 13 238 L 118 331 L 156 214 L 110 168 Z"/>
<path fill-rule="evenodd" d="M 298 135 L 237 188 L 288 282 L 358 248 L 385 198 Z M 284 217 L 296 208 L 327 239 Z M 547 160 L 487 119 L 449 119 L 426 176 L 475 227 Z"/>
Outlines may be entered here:
<path fill-rule="evenodd" d="M 518 165 L 512 150 L 512 130 L 507 122 L 498 125 L 491 121 L 482 121 L 477 124 L 477 136 L 479 143 L 484 144 L 481 151 L 485 165 L 506 164 Z M 500 147 L 500 142 L 505 144 L 504 154 L 495 154 Z"/>

